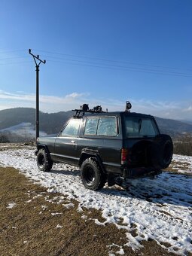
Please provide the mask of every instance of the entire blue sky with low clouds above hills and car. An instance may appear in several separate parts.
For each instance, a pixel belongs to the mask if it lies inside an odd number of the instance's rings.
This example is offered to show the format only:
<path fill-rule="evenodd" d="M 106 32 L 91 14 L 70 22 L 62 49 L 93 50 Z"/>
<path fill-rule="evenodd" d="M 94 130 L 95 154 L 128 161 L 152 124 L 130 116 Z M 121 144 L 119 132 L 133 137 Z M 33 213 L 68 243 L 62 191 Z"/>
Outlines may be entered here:
<path fill-rule="evenodd" d="M 192 120 L 190 0 L 2 0 L 0 110 L 108 110 Z"/>

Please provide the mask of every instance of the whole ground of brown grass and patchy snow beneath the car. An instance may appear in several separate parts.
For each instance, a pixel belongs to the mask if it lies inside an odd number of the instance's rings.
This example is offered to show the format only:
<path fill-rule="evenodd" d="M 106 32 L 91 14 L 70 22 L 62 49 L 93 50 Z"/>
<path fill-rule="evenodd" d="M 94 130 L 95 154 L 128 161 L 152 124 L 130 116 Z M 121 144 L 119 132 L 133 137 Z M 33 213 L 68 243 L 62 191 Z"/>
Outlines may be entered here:
<path fill-rule="evenodd" d="M 192 254 L 192 157 L 94 192 L 77 167 L 39 172 L 34 149 L 1 145 L 1 255 Z"/>

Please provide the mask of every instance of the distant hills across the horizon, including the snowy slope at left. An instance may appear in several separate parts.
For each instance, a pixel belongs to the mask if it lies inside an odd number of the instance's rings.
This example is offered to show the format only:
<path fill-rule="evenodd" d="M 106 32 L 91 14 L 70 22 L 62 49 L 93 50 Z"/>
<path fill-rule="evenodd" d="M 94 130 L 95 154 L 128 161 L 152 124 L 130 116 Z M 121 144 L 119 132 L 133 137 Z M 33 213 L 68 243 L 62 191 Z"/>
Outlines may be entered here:
<path fill-rule="evenodd" d="M 73 111 L 52 114 L 40 112 L 40 134 L 59 133 L 63 124 L 69 117 L 72 117 L 72 114 Z M 192 133 L 192 124 L 190 123 L 160 117 L 155 117 L 155 119 L 161 133 L 167 133 L 172 137 L 179 136 L 181 133 Z M 27 138 L 32 139 L 32 136 L 35 138 L 35 108 L 10 108 L 0 111 L 0 137 L 2 142 L 5 142 L 6 139 L 11 142 L 23 142 Z"/>

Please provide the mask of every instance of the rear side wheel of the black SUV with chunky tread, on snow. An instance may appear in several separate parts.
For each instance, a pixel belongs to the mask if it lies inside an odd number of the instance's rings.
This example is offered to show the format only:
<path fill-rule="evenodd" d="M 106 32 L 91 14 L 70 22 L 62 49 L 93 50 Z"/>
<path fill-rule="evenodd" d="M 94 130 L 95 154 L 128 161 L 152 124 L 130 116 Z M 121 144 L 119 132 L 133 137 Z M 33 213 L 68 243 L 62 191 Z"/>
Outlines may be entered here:
<path fill-rule="evenodd" d="M 99 190 L 104 187 L 106 182 L 105 174 L 99 163 L 93 158 L 87 158 L 81 165 L 81 181 L 84 186 L 91 190 Z"/>

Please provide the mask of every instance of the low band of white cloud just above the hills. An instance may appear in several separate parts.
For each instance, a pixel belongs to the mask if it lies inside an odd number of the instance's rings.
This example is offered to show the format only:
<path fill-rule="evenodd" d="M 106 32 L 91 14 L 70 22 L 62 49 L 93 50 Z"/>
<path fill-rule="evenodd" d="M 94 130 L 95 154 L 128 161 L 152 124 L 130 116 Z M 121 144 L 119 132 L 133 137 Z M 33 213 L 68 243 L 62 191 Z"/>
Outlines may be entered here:
<path fill-rule="evenodd" d="M 35 108 L 36 104 L 35 94 L 23 92 L 8 93 L 0 90 L 0 100 L 0 110 L 17 107 Z M 134 112 L 170 119 L 192 119 L 191 102 L 156 102 L 146 99 L 130 99 L 130 102 L 133 106 L 131 111 Z M 74 92 L 66 96 L 40 96 L 40 110 L 48 113 L 69 111 L 79 108 L 84 103 L 89 104 L 90 108 L 102 105 L 102 109 L 108 108 L 108 111 L 123 111 L 125 109 L 125 102 L 119 99 L 96 99 L 90 93 Z"/>

